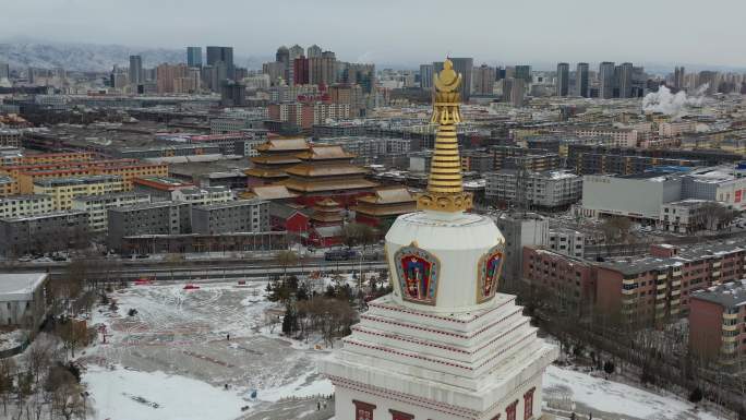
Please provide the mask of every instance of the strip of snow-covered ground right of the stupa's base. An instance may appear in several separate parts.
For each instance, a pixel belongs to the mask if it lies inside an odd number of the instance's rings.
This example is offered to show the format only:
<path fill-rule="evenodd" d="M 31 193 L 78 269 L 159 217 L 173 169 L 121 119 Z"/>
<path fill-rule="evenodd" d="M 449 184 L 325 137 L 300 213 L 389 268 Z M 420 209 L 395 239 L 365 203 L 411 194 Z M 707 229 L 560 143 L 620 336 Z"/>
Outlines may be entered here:
<path fill-rule="evenodd" d="M 661 396 L 646 389 L 594 377 L 583 372 L 550 365 L 544 374 L 544 400 L 569 398 L 583 406 L 578 415 L 587 416 L 599 411 L 619 415 L 619 419 L 701 419 L 718 417 L 702 410 L 695 410 L 693 404 L 675 396 Z M 550 403 L 551 406 L 551 403 Z"/>

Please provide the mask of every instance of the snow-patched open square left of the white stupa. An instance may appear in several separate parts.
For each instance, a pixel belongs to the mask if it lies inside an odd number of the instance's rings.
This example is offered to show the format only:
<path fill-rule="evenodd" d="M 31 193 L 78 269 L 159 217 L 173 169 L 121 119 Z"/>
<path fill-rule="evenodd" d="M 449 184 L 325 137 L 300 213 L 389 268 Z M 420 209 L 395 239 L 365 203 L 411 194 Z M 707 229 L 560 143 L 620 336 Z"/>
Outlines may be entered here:
<path fill-rule="evenodd" d="M 97 418 L 232 420 L 287 398 L 333 393 L 316 372 L 328 351 L 280 338 L 279 325 L 274 332 L 266 325 L 273 304 L 264 298 L 265 284 L 200 286 L 133 286 L 110 293 L 116 311 L 96 309 L 92 322 L 106 325 L 107 344 L 93 346 L 81 361 Z M 204 404 L 213 397 L 221 409 Z M 137 416 L 127 417 L 119 406 Z"/>

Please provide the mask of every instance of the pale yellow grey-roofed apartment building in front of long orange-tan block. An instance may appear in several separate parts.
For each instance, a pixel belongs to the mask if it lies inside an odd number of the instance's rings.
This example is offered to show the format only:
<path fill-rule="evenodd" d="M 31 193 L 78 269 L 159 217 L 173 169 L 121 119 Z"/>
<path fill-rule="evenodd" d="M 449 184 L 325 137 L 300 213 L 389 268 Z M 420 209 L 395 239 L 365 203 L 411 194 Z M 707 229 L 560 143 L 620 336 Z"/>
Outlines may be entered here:
<path fill-rule="evenodd" d="M 55 208 L 58 211 L 72 208 L 73 199 L 76 196 L 111 194 L 123 190 L 122 178 L 109 175 L 47 178 L 34 181 L 34 194 L 51 196 Z"/>

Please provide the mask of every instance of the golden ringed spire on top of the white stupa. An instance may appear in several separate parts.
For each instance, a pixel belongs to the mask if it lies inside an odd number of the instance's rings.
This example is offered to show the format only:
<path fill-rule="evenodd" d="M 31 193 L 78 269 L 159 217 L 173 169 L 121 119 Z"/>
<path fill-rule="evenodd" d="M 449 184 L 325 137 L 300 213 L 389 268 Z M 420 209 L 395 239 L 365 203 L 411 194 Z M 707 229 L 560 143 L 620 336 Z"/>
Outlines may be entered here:
<path fill-rule="evenodd" d="M 461 122 L 460 84 L 461 75 L 454 71 L 453 62 L 446 59 L 443 71 L 433 75 L 435 91 L 431 122 L 438 123 L 438 127 L 428 191 L 418 196 L 418 209 L 453 213 L 471 208 L 471 194 L 464 192 L 461 185 L 461 157 L 456 139 L 456 124 Z"/>

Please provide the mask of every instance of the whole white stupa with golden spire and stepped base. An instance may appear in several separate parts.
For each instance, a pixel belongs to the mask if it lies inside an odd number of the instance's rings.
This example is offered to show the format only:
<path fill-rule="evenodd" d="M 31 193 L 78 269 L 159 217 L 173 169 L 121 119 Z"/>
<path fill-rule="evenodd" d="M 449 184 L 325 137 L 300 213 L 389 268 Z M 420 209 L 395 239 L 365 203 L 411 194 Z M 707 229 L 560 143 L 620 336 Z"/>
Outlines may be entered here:
<path fill-rule="evenodd" d="M 515 304 L 496 293 L 505 239 L 465 213 L 456 124 L 461 75 L 434 76 L 438 123 L 420 212 L 386 235 L 394 292 L 369 303 L 341 349 L 322 361 L 335 385 L 336 420 L 541 417 L 541 383 L 557 355 Z"/>

